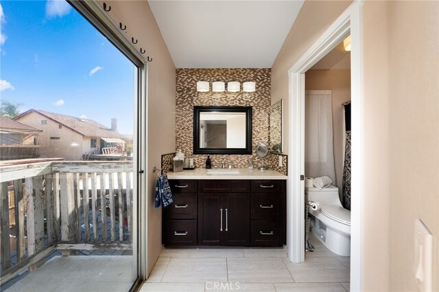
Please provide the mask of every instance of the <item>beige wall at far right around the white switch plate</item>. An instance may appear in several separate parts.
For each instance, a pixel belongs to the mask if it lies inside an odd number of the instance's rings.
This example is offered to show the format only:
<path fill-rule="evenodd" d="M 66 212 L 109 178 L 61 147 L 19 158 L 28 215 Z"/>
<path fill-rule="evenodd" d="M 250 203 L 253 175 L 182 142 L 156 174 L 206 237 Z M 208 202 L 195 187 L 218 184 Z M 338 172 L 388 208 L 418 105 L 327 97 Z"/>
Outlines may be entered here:
<path fill-rule="evenodd" d="M 415 291 L 414 221 L 434 235 L 439 291 L 439 2 L 390 2 L 390 289 Z M 367 45 L 367 44 L 365 44 Z"/>

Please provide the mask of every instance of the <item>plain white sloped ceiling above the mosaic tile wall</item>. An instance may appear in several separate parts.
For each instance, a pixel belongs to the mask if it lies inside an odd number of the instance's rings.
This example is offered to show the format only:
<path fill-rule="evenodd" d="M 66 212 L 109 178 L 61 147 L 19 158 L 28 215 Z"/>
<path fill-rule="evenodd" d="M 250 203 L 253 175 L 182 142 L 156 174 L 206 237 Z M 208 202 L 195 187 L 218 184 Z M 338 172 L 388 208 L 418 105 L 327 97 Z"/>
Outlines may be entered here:
<path fill-rule="evenodd" d="M 271 68 L 303 1 L 148 3 L 177 68 Z"/>

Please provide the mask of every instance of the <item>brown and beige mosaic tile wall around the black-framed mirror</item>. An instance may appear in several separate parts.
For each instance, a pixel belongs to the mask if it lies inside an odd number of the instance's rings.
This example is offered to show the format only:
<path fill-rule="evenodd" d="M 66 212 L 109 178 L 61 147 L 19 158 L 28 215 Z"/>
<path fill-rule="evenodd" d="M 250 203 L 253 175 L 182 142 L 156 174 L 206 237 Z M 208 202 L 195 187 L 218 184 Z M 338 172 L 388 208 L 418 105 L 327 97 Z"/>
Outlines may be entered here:
<path fill-rule="evenodd" d="M 197 82 L 256 82 L 254 93 L 201 93 L 197 91 Z M 270 104 L 271 104 L 271 69 L 176 69 L 176 150 L 181 149 L 185 156 L 193 153 L 193 106 L 252 106 L 252 149 L 258 143 L 269 141 Z M 272 156 L 272 155 L 270 155 Z M 195 166 L 204 167 L 206 155 L 193 155 Z M 268 158 L 267 165 L 271 169 L 278 165 L 276 159 Z M 252 155 L 211 155 L 212 165 L 226 165 L 233 168 L 246 168 L 248 159 L 253 158 L 254 166 L 260 165 L 256 154 Z M 276 164 L 272 165 L 272 161 Z M 270 161 L 270 162 L 269 162 Z M 285 156 L 286 163 L 286 156 Z M 286 164 L 285 172 L 286 174 Z M 278 170 L 278 169 L 276 169 Z"/>

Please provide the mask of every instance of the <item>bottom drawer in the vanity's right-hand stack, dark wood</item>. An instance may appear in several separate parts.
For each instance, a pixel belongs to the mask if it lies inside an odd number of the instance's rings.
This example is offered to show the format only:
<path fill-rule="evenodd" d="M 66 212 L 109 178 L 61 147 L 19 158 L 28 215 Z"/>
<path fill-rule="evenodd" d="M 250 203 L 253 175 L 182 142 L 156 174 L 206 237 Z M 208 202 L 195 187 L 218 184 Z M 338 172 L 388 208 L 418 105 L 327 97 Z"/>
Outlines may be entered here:
<path fill-rule="evenodd" d="M 281 233 L 277 220 L 252 220 L 251 245 L 256 246 L 281 246 Z"/>

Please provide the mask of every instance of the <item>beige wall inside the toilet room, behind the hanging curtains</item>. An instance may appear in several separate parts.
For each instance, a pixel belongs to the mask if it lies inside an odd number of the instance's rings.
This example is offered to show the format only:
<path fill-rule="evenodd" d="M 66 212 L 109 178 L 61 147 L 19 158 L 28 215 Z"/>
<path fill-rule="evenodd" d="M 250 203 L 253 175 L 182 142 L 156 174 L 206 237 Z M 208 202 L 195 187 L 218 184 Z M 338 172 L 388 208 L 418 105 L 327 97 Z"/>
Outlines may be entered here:
<path fill-rule="evenodd" d="M 344 166 L 344 110 L 342 104 L 351 100 L 351 70 L 309 70 L 305 73 L 305 90 L 332 91 L 333 147 L 335 177 L 342 192 Z M 306 145 L 305 145 L 306 147 Z"/>

